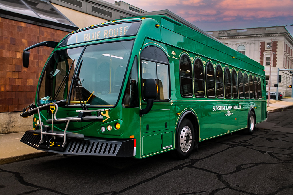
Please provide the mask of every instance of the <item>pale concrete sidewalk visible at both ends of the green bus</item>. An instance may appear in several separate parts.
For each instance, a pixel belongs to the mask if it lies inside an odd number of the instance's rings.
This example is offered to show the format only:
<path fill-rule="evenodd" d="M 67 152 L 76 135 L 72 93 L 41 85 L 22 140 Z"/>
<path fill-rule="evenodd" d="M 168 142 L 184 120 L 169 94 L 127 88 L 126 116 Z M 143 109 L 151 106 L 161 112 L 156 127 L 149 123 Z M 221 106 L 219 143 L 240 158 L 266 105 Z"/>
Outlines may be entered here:
<path fill-rule="evenodd" d="M 270 107 L 267 107 L 267 111 L 273 112 L 282 108 L 293 106 L 293 99 L 291 100 L 292 101 L 270 100 Z M 20 142 L 23 134 L 24 132 L 0 134 L 0 165 L 54 154 L 39 151 L 23 144 Z"/>

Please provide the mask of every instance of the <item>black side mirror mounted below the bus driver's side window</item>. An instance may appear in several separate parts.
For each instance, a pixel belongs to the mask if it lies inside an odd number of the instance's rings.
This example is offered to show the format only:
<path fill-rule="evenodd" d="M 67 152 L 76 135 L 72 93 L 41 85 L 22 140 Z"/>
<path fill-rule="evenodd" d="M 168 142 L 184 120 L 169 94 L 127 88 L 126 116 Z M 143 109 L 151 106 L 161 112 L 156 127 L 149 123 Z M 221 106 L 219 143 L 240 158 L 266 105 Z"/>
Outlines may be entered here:
<path fill-rule="evenodd" d="M 143 116 L 151 110 L 153 107 L 154 99 L 158 94 L 158 87 L 155 79 L 147 79 L 144 82 L 144 98 L 147 100 L 147 107 L 140 110 L 140 116 Z"/>

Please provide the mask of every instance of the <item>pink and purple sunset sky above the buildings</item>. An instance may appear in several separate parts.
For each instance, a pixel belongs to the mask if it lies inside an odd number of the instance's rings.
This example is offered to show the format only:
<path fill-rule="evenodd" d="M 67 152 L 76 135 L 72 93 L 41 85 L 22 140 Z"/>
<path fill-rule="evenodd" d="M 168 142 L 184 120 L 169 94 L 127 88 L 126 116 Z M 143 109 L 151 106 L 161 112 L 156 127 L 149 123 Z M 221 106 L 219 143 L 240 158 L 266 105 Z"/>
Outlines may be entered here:
<path fill-rule="evenodd" d="M 293 0 L 122 1 L 148 12 L 168 9 L 204 31 L 293 24 Z"/>

